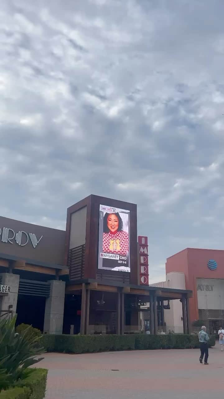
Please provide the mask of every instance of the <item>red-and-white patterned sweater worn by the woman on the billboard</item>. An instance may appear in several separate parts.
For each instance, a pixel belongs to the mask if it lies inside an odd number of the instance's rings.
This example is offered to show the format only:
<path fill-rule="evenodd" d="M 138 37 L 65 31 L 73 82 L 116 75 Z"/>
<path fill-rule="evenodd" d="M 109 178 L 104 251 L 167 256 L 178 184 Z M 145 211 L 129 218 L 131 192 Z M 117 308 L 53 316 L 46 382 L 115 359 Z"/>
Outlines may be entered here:
<path fill-rule="evenodd" d="M 127 255 L 129 236 L 126 231 L 103 233 L 103 252 Z"/>

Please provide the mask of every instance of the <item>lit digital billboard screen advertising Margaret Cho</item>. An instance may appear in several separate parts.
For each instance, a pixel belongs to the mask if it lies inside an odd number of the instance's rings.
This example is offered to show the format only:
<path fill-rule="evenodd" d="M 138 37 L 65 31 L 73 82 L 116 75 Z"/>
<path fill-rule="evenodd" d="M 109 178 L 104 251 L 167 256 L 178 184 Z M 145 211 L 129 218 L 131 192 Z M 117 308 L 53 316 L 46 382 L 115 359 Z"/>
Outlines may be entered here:
<path fill-rule="evenodd" d="M 130 272 L 130 211 L 100 205 L 98 269 Z"/>

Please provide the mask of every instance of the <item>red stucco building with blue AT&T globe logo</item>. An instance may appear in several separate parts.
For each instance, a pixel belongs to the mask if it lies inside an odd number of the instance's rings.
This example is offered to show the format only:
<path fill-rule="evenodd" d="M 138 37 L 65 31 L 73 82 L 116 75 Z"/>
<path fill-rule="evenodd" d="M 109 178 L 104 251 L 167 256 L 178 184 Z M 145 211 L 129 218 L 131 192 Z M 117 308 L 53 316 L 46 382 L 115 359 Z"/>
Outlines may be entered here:
<path fill-rule="evenodd" d="M 206 321 L 214 332 L 224 323 L 224 250 L 186 248 L 167 258 L 169 276 L 185 275 L 185 287 L 192 290 L 189 298 L 190 321 Z"/>

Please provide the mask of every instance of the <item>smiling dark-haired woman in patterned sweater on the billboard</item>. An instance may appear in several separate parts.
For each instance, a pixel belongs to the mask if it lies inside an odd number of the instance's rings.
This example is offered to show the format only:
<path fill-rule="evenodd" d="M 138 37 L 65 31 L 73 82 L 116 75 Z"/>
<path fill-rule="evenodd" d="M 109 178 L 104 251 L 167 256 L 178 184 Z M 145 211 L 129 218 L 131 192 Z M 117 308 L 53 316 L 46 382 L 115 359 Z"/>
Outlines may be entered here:
<path fill-rule="evenodd" d="M 123 230 L 119 213 L 105 213 L 103 227 L 103 252 L 127 256 L 129 236 Z"/>

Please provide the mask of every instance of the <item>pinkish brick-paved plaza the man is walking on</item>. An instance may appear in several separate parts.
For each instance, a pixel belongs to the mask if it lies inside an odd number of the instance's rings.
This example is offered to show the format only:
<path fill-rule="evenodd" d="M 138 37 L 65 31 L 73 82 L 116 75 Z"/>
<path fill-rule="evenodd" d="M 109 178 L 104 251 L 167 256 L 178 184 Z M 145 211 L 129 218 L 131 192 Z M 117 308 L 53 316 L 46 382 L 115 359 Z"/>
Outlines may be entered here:
<path fill-rule="evenodd" d="M 224 352 L 210 349 L 155 350 L 68 355 L 45 354 L 49 369 L 45 399 L 220 399 Z"/>

